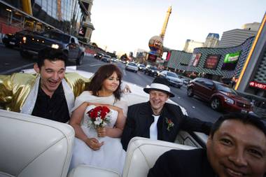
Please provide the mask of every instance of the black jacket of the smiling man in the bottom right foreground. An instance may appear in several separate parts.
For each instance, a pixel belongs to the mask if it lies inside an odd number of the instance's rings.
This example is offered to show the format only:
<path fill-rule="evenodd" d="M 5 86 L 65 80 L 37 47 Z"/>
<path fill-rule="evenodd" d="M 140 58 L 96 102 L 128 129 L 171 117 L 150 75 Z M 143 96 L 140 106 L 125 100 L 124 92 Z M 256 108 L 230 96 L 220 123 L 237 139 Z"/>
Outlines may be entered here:
<path fill-rule="evenodd" d="M 169 150 L 161 155 L 148 177 L 215 177 L 204 149 Z"/>

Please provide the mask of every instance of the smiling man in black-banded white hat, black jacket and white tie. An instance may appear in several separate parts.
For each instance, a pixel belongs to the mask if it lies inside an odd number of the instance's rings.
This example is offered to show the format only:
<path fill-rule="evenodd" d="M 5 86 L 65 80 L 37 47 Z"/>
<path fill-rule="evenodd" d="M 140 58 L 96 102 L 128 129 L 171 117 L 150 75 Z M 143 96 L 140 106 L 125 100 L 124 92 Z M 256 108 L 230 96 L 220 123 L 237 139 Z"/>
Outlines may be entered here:
<path fill-rule="evenodd" d="M 132 105 L 127 111 L 121 139 L 125 150 L 134 136 L 174 142 L 180 129 L 209 134 L 210 122 L 183 115 L 179 106 L 166 103 L 169 97 L 174 97 L 166 78 L 155 78 L 151 87 L 144 88 L 144 92 L 150 94 L 150 100 Z"/>

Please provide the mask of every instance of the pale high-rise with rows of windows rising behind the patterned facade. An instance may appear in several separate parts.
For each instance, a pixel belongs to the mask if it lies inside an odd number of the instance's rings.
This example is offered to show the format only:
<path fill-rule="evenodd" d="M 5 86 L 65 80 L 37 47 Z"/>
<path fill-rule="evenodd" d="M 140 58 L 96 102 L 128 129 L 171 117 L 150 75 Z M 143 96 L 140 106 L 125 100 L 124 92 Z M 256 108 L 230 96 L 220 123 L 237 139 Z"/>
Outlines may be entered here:
<path fill-rule="evenodd" d="M 244 43 L 247 38 L 257 34 L 259 24 L 260 23 L 257 22 L 248 23 L 244 24 L 244 29 L 224 31 L 221 41 L 218 44 L 218 48 L 228 48 Z"/>

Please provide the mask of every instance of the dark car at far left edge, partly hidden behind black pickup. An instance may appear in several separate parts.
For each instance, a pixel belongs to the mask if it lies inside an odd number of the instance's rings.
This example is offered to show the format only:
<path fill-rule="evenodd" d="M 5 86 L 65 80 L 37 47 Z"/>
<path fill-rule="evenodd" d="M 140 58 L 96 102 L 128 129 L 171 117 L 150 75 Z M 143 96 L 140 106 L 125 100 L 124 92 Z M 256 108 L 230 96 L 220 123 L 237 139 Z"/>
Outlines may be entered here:
<path fill-rule="evenodd" d="M 25 36 L 26 34 L 33 34 L 33 33 L 34 31 L 25 29 L 22 31 L 18 31 L 15 34 L 6 34 L 5 36 L 3 36 L 2 41 L 7 48 L 20 47 L 23 36 Z"/>

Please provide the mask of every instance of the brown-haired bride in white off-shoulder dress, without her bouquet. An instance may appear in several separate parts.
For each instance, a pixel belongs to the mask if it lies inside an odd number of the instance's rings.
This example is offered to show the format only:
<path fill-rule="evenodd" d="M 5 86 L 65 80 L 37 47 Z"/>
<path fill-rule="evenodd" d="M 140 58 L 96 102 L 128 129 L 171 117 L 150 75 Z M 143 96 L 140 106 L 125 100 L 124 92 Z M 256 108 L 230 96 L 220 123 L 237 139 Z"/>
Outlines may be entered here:
<path fill-rule="evenodd" d="M 71 167 L 90 164 L 96 167 L 123 172 L 125 150 L 120 143 L 127 115 L 127 102 L 121 98 L 122 73 L 116 65 L 101 66 L 92 77 L 89 91 L 77 97 L 69 124 L 76 134 Z M 94 128 L 88 112 L 96 106 L 107 106 L 109 123 Z"/>

